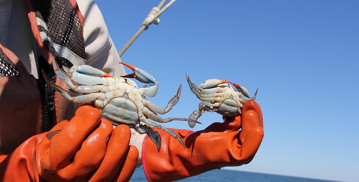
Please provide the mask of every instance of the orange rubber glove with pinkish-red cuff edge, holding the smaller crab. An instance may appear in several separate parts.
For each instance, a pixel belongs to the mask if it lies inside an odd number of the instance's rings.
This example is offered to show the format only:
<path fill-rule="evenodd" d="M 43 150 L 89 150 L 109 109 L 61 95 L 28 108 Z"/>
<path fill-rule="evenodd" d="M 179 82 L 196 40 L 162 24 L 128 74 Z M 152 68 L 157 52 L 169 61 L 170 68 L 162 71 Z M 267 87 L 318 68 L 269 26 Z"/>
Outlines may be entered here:
<path fill-rule="evenodd" d="M 223 118 L 223 123 L 213 123 L 202 131 L 171 129 L 182 138 L 186 149 L 166 132 L 155 129 L 162 138 L 160 152 L 146 138 L 142 149 L 148 181 L 176 181 L 212 169 L 248 164 L 264 136 L 260 106 L 249 100 L 242 108 L 242 116 Z"/>

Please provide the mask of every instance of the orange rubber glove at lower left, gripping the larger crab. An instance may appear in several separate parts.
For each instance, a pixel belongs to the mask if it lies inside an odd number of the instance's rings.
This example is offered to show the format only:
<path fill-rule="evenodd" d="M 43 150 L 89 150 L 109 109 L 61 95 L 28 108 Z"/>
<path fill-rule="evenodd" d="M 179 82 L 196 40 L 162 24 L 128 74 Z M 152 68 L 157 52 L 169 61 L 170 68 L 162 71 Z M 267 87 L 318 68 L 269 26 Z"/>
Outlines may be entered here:
<path fill-rule="evenodd" d="M 82 105 L 70 122 L 29 138 L 9 154 L 0 163 L 0 181 L 129 181 L 138 159 L 130 137 L 128 126 L 113 129 L 98 109 Z"/>

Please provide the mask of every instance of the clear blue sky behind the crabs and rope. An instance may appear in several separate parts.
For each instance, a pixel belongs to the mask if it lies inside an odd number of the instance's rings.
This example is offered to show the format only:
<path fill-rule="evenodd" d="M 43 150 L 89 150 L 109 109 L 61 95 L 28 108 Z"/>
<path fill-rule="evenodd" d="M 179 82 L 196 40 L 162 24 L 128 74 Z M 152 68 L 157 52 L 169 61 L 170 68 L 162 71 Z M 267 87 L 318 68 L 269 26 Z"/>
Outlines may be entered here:
<path fill-rule="evenodd" d="M 118 51 L 159 2 L 96 1 Z M 180 101 L 164 118 L 187 118 L 198 108 L 185 73 L 196 84 L 227 79 L 251 94 L 259 87 L 264 140 L 250 164 L 227 169 L 354 182 L 358 9 L 354 0 L 178 0 L 121 59 L 159 81 L 157 96 L 148 98 L 159 106 L 183 84 Z M 205 113 L 194 130 L 221 120 Z M 164 126 L 190 129 L 180 121 Z"/>

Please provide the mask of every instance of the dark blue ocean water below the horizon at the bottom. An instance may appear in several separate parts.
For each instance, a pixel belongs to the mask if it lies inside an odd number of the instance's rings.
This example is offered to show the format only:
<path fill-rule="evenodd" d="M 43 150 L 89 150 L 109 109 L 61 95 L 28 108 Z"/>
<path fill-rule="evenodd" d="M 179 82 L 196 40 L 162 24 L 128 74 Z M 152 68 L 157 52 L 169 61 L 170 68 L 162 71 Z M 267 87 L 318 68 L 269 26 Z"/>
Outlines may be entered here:
<path fill-rule="evenodd" d="M 178 182 L 334 182 L 320 179 L 280 176 L 273 174 L 251 173 L 227 169 L 215 169 Z M 143 168 L 137 168 L 130 182 L 148 182 Z"/>

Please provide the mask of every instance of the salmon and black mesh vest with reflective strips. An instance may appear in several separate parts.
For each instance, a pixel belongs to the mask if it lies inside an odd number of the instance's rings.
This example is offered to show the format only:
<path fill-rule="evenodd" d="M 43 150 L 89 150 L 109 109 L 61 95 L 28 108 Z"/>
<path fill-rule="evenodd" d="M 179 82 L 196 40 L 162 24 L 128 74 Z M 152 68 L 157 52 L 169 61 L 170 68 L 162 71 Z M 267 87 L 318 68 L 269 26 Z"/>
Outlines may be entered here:
<path fill-rule="evenodd" d="M 29 74 L 19 58 L 0 44 L 0 152 L 12 151 L 29 137 L 50 131 L 71 119 L 79 104 L 54 92 L 42 76 L 57 79 L 52 57 L 65 70 L 85 64 L 83 16 L 75 0 L 25 0 L 33 35 L 40 47 L 39 79 Z M 1 43 L 1 42 L 0 42 Z"/>

